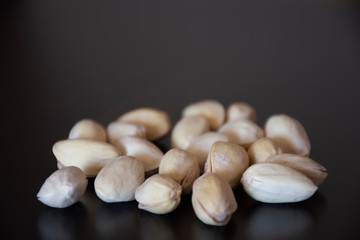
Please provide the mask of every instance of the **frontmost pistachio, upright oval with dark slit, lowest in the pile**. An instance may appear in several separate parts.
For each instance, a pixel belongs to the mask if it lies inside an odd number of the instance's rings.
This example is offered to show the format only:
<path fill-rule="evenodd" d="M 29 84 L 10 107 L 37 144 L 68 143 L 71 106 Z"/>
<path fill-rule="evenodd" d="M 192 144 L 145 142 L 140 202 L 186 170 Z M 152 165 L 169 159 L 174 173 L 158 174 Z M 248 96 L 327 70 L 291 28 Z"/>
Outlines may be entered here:
<path fill-rule="evenodd" d="M 237 209 L 229 183 L 215 173 L 204 173 L 196 179 L 191 198 L 196 216 L 205 224 L 226 225 Z"/>

